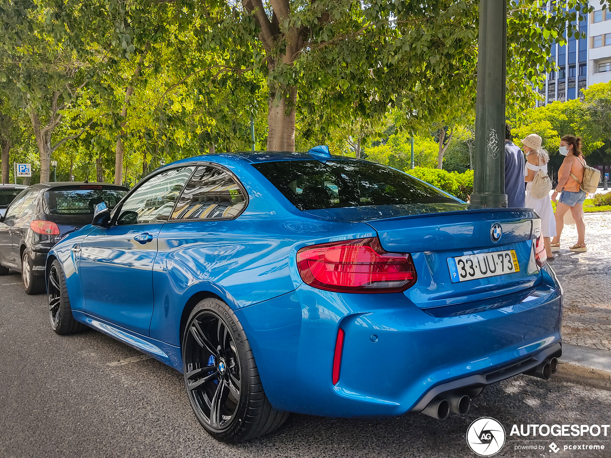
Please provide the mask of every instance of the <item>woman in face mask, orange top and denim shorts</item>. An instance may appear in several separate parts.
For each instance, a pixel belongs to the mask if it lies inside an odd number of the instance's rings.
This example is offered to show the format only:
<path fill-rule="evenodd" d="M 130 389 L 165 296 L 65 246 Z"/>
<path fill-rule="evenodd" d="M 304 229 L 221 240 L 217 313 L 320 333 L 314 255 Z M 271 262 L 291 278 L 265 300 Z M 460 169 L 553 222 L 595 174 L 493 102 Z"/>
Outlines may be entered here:
<path fill-rule="evenodd" d="M 558 170 L 558 184 L 554 189 L 554 194 L 552 194 L 552 200 L 556 202 L 558 192 L 560 192 L 560 199 L 558 199 L 556 205 L 556 236 L 552 240 L 552 250 L 560 250 L 560 235 L 564 227 L 563 218 L 565 213 L 570 210 L 577 226 L 577 243 L 570 249 L 575 252 L 584 252 L 587 251 L 585 245 L 584 200 L 588 194 L 579 186 L 580 181 L 584 180 L 585 165 L 585 159 L 581 152 L 580 137 L 565 135 L 560 139 L 558 151 L 566 157 L 560 166 L 560 170 Z"/>

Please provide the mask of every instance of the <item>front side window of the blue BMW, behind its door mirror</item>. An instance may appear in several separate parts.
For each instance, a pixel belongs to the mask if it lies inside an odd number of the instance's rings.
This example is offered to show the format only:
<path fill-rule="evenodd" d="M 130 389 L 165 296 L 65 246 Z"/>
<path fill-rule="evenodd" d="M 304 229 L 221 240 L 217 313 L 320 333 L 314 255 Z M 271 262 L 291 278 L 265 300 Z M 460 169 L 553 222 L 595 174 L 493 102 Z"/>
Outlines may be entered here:
<path fill-rule="evenodd" d="M 167 221 L 195 167 L 171 169 L 140 184 L 123 202 L 118 225 Z"/>

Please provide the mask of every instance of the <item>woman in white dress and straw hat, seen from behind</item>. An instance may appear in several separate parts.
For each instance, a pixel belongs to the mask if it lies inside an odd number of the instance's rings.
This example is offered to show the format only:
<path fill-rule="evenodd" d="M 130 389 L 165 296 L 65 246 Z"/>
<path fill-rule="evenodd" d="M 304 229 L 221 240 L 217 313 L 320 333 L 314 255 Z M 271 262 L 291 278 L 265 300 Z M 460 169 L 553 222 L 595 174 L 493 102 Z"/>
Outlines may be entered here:
<path fill-rule="evenodd" d="M 556 236 L 556 220 L 554 217 L 554 209 L 549 195 L 543 198 L 535 198 L 530 191 L 533 186 L 533 180 L 539 170 L 547 175 L 547 162 L 549 154 L 541 148 L 541 137 L 537 134 L 530 134 L 524 140 L 524 153 L 526 153 L 526 167 L 524 170 L 524 180 L 526 181 L 526 201 L 525 207 L 532 208 L 541 218 L 541 233 L 543 234 L 543 242 L 547 259 L 554 259 L 552 252 L 552 237 Z"/>

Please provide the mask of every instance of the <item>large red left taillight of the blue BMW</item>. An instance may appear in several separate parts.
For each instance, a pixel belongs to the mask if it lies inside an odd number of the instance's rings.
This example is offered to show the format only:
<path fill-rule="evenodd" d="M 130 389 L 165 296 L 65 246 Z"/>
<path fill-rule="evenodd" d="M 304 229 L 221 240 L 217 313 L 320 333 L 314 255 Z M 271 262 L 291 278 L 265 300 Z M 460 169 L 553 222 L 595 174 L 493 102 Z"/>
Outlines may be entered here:
<path fill-rule="evenodd" d="M 338 293 L 399 293 L 416 282 L 411 256 L 385 252 L 378 238 L 302 248 L 297 266 L 308 285 Z"/>

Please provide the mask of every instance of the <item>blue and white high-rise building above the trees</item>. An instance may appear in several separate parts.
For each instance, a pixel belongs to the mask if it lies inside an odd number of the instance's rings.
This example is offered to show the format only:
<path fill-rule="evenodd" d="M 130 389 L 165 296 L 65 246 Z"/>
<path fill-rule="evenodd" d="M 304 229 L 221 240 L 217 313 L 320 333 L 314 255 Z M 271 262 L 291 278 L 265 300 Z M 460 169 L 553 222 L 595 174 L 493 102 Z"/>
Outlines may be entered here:
<path fill-rule="evenodd" d="M 547 75 L 545 87 L 539 90 L 545 100 L 537 106 L 582 98 L 582 89 L 590 84 L 611 80 L 611 12 L 602 10 L 599 0 L 589 1 L 595 10 L 579 23 L 587 38 L 571 37 L 564 46 L 552 45 L 550 59 L 558 71 Z"/>

